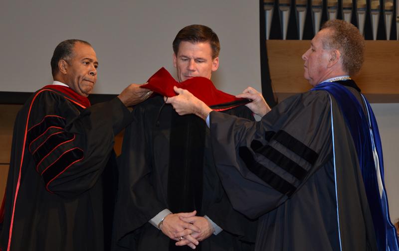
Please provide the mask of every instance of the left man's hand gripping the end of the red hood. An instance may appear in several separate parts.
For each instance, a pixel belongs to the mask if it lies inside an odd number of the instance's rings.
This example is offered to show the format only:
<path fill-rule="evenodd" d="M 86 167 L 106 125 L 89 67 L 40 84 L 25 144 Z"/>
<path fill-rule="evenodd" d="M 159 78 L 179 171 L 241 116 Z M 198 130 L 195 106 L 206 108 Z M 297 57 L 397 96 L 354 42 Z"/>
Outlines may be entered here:
<path fill-rule="evenodd" d="M 148 99 L 153 93 L 149 89 L 141 88 L 143 84 L 131 84 L 119 94 L 118 98 L 126 107 L 137 105 Z"/>

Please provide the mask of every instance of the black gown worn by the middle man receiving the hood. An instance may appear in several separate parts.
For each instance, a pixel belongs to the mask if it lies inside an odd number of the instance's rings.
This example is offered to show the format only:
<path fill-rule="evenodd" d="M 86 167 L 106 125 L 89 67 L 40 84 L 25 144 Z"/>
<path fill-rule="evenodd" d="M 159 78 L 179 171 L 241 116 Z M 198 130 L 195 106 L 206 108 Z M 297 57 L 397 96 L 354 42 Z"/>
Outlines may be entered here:
<path fill-rule="evenodd" d="M 196 209 L 197 215 L 208 216 L 223 229 L 200 243 L 203 251 L 250 250 L 253 245 L 247 242 L 254 241 L 256 222 L 233 210 L 228 201 L 214 167 L 209 128 L 200 118 L 179 116 L 172 106 L 163 104 L 163 97 L 157 96 L 136 106 L 133 123 L 125 130 L 118 159 L 115 250 L 166 251 L 169 245 L 174 246 L 175 241 L 170 243 L 167 236 L 148 223 L 166 208 L 174 213 Z M 253 119 L 245 106 L 225 112 Z M 197 137 L 200 134 L 202 142 Z M 184 165 L 185 161 L 188 164 L 171 175 L 170 167 Z M 179 173 L 194 173 L 195 178 L 176 178 Z M 183 182 L 178 184 L 179 180 Z M 174 190 L 182 186 L 186 187 Z M 176 206 L 185 201 L 195 205 Z"/>

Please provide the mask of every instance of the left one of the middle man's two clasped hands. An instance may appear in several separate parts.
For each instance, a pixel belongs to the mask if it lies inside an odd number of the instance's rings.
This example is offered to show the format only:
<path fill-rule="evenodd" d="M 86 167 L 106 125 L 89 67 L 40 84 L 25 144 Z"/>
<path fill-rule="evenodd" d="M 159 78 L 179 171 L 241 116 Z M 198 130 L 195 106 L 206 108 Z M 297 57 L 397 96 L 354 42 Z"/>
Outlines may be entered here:
<path fill-rule="evenodd" d="M 181 241 L 180 239 L 176 238 L 176 234 L 179 232 L 182 232 L 185 229 L 190 229 L 196 233 L 200 233 L 200 228 L 194 226 L 191 223 L 187 223 L 185 221 L 182 221 L 180 219 L 181 217 L 193 217 L 197 214 L 197 211 L 193 211 L 190 213 L 179 213 L 179 214 L 169 214 L 165 217 L 164 221 L 162 222 L 160 229 L 162 231 L 162 233 L 164 233 L 166 236 L 168 236 L 169 238 L 175 240 L 175 241 Z M 188 241 L 191 242 L 192 245 L 188 245 L 190 246 L 192 249 L 195 249 L 194 245 L 198 245 L 199 242 L 191 237 L 191 236 L 187 236 L 185 237 L 188 239 Z"/>

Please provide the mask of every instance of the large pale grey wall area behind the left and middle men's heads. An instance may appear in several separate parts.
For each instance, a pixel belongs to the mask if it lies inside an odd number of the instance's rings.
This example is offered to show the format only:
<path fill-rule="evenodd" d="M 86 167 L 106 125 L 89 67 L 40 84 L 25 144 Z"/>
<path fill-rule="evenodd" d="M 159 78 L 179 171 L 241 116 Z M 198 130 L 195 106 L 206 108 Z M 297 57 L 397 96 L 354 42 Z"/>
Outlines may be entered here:
<path fill-rule="evenodd" d="M 260 90 L 258 0 L 7 0 L 0 4 L 0 91 L 33 92 L 50 83 L 52 52 L 70 38 L 89 41 L 97 53 L 94 93 L 118 94 L 163 66 L 175 76 L 172 41 L 189 24 L 219 36 L 217 88 Z"/>

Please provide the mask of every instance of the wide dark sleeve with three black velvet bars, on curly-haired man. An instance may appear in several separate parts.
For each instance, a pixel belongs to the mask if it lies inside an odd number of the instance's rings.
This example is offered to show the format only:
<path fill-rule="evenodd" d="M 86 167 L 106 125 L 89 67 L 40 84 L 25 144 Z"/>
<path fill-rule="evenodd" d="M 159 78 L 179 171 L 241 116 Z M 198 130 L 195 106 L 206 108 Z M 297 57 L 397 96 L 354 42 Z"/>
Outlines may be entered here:
<path fill-rule="evenodd" d="M 237 211 L 256 218 L 273 210 L 326 161 L 319 153 L 330 147 L 331 130 L 315 129 L 331 128 L 326 99 L 324 92 L 296 95 L 260 122 L 210 113 L 215 164 Z"/>

